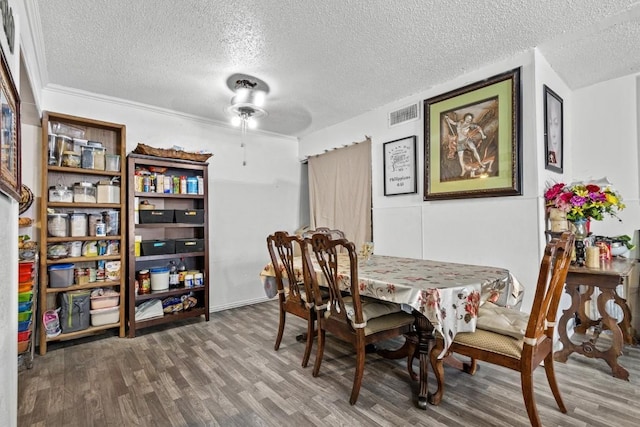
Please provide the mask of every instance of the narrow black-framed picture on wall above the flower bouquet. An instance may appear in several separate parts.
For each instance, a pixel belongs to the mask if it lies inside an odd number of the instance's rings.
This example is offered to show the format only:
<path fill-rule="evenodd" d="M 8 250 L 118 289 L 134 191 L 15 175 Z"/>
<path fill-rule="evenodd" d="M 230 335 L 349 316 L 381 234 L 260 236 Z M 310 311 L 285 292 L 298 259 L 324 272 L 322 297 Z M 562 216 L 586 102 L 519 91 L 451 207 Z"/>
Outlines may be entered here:
<path fill-rule="evenodd" d="M 562 173 L 564 125 L 562 98 L 544 85 L 545 168 Z"/>

